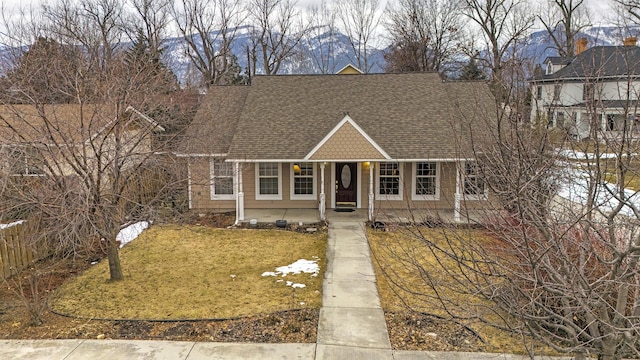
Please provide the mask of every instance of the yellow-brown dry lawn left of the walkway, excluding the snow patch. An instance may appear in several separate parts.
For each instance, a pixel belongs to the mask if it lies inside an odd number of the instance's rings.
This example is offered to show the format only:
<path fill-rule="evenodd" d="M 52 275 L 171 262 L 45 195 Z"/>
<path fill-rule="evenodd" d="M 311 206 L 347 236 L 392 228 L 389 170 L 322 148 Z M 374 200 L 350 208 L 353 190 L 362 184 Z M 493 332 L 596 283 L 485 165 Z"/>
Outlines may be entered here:
<path fill-rule="evenodd" d="M 58 289 L 50 306 L 83 318 L 147 320 L 318 309 L 325 247 L 322 233 L 155 226 L 121 249 L 124 281 L 109 281 L 104 260 Z M 316 258 L 317 276 L 262 276 L 298 259 Z M 306 287 L 294 289 L 287 280 Z"/>

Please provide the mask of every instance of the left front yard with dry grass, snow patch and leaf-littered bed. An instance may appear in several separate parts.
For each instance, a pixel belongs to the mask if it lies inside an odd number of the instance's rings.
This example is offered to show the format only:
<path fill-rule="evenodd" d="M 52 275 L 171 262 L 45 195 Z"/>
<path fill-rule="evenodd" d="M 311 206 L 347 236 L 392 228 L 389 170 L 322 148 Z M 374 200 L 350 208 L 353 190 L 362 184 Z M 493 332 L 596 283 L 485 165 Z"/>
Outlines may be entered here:
<path fill-rule="evenodd" d="M 155 226 L 121 249 L 124 281 L 105 259 L 52 291 L 68 317 L 29 327 L 6 305 L 0 337 L 314 342 L 325 249 L 323 232 Z"/>

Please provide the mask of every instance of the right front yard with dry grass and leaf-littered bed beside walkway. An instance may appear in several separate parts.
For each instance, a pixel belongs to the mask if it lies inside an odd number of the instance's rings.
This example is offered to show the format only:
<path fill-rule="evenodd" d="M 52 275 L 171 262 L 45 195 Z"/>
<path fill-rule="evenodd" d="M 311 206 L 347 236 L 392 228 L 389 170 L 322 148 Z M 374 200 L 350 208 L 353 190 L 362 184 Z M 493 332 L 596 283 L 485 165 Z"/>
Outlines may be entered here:
<path fill-rule="evenodd" d="M 456 235 L 452 236 L 451 231 Z M 456 240 L 447 245 L 445 234 Z M 491 246 L 494 239 L 483 230 L 408 226 L 387 232 L 369 230 L 367 237 L 394 349 L 522 354 L 523 344 L 531 345 L 526 339 L 474 319 L 491 304 L 463 294 L 465 291 L 456 291 L 471 279 L 460 276 L 454 280 L 445 275 L 455 274 L 459 265 L 429 249 L 428 242 L 455 247 L 455 241 L 468 237 Z M 447 271 L 443 271 L 445 267 Z M 430 289 L 427 282 L 434 282 L 437 291 Z M 458 320 L 452 320 L 445 309 Z"/>

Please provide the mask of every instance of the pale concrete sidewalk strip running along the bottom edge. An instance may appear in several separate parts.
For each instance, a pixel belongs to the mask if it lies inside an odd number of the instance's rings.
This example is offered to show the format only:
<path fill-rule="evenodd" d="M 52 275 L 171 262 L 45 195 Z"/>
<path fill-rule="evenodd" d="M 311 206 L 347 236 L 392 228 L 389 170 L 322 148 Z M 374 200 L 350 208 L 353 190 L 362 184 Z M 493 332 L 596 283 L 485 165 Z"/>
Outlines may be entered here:
<path fill-rule="evenodd" d="M 2 360 L 210 360 L 321 359 L 316 344 L 241 344 L 152 340 L 0 340 Z M 342 347 L 343 350 L 349 350 Z M 378 351 L 394 360 L 525 360 L 522 355 L 360 349 L 324 359 L 376 359 Z M 322 354 L 319 354 L 322 355 Z M 541 357 L 540 359 L 548 359 Z M 567 358 L 554 358 L 571 359 Z"/>

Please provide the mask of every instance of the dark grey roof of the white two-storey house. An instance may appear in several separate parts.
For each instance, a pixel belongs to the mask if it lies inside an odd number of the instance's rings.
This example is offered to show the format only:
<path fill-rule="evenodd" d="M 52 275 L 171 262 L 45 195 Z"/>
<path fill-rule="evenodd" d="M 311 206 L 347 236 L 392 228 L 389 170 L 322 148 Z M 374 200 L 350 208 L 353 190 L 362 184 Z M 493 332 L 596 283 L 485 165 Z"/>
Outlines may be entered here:
<path fill-rule="evenodd" d="M 640 76 L 640 47 L 594 46 L 564 60 L 567 66 L 550 75 L 539 75 L 539 82 Z"/>

